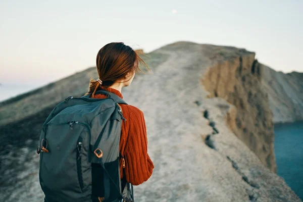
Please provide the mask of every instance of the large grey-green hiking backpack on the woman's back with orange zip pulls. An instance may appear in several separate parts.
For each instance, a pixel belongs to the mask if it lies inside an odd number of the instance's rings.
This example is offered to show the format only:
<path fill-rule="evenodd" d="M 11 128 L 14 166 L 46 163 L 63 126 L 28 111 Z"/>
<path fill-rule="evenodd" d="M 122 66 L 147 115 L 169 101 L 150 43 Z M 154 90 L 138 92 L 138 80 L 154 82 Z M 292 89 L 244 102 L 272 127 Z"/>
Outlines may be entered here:
<path fill-rule="evenodd" d="M 42 126 L 37 153 L 44 201 L 133 201 L 132 184 L 124 179 L 121 187 L 120 179 L 119 143 L 126 119 L 119 104 L 126 103 L 106 90 L 95 93 L 107 98 L 69 96 Z"/>

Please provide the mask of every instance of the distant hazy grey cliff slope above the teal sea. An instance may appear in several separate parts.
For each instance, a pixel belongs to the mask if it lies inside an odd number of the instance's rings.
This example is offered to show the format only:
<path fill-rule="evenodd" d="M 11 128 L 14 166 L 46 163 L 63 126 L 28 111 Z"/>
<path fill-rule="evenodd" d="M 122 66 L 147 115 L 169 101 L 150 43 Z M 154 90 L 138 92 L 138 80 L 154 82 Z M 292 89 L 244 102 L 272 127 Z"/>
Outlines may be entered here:
<path fill-rule="evenodd" d="M 274 122 L 303 120 L 303 73 L 284 74 L 261 65 L 262 87 L 268 93 Z"/>

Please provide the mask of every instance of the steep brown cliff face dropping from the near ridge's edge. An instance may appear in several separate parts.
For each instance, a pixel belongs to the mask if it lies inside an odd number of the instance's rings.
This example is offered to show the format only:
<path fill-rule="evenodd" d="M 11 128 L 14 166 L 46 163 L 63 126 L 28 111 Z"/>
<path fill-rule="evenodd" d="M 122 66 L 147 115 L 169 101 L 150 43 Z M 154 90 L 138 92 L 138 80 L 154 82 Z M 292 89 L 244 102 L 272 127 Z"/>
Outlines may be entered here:
<path fill-rule="evenodd" d="M 236 107 L 227 118 L 231 130 L 276 172 L 273 115 L 262 89 L 261 74 L 255 54 L 248 54 L 215 64 L 203 84 L 210 97 L 222 97 Z"/>

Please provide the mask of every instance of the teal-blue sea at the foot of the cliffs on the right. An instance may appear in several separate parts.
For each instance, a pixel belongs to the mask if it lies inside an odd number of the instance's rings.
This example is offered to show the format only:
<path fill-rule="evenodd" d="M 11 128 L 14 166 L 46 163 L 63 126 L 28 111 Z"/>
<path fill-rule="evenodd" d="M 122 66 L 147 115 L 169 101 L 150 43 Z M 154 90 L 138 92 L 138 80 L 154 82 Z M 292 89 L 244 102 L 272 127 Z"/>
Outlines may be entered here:
<path fill-rule="evenodd" d="M 277 174 L 303 200 L 303 121 L 275 125 Z"/>

